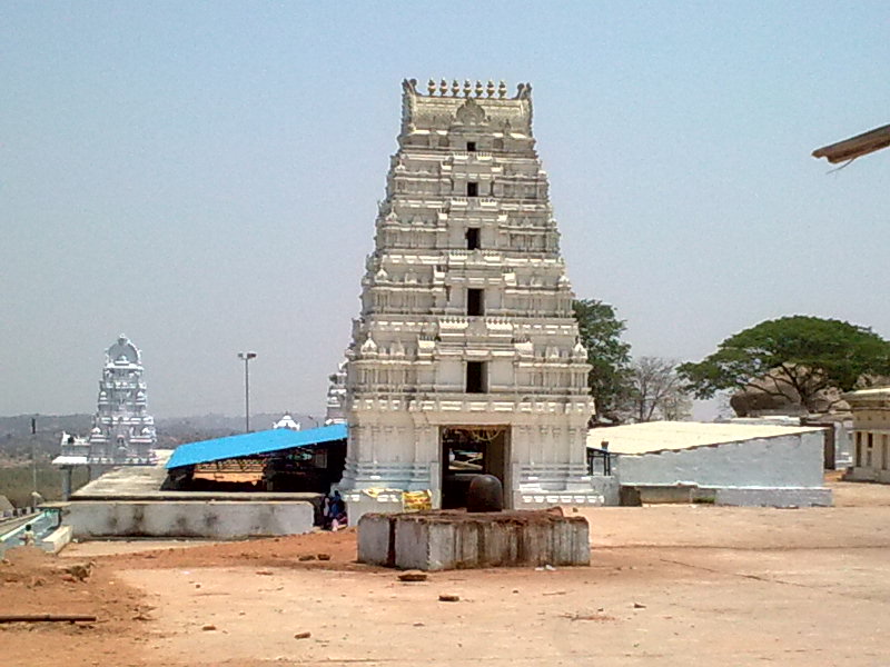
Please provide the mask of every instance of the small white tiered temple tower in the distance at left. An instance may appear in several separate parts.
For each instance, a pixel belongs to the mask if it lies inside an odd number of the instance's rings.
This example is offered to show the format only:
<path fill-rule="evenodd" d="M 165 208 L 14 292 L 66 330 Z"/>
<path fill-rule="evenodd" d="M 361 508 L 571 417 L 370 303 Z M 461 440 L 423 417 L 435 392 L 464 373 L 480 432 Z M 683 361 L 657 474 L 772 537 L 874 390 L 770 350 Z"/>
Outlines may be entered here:
<path fill-rule="evenodd" d="M 121 334 L 106 350 L 99 405 L 90 435 L 62 434 L 63 490 L 70 490 L 71 468 L 88 466 L 93 479 L 116 466 L 148 466 L 157 461 L 155 419 L 147 411 L 145 369 L 137 347 Z M 67 496 L 67 494 L 65 494 Z"/>

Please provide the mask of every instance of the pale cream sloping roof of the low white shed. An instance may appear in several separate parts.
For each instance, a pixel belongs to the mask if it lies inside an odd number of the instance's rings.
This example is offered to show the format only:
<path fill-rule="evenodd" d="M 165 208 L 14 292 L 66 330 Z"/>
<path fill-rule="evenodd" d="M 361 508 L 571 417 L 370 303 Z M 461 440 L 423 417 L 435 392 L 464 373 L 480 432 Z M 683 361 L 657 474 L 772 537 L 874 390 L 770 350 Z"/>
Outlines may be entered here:
<path fill-rule="evenodd" d="M 692 449 L 760 438 L 777 438 L 820 430 L 818 427 L 748 425 L 703 421 L 649 421 L 587 431 L 587 447 L 609 442 L 614 454 L 653 454 Z"/>

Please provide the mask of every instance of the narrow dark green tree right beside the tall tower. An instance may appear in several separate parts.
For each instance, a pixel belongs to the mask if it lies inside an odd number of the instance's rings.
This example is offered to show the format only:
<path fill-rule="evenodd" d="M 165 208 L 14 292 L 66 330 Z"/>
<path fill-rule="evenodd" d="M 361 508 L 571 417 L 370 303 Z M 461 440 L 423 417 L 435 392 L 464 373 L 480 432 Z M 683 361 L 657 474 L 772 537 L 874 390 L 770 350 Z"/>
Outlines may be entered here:
<path fill-rule="evenodd" d="M 572 303 L 581 344 L 587 349 L 593 367 L 587 381 L 596 412 L 620 421 L 619 412 L 629 394 L 631 346 L 621 339 L 626 326 L 613 306 L 596 299 L 578 299 Z"/>

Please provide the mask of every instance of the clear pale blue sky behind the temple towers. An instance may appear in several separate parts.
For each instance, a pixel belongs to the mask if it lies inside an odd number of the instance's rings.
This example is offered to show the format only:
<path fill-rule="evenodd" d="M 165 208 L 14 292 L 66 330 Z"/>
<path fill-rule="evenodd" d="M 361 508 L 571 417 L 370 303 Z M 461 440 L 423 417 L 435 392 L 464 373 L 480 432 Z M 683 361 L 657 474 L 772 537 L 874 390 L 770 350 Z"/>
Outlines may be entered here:
<path fill-rule="evenodd" d="M 887 2 L 0 4 L 0 414 L 319 414 L 403 78 L 534 87 L 568 273 L 636 355 L 808 313 L 890 337 Z"/>

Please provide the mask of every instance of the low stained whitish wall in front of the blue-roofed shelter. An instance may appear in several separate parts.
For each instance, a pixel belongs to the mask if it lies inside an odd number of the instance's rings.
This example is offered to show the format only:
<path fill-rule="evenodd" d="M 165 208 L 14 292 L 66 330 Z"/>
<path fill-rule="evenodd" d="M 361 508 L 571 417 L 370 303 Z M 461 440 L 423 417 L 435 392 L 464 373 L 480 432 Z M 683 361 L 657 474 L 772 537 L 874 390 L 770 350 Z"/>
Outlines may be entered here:
<path fill-rule="evenodd" d="M 239 537 L 294 535 L 313 529 L 313 505 L 305 501 L 71 502 L 63 515 L 77 538 Z"/>

